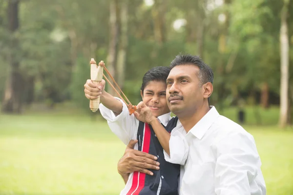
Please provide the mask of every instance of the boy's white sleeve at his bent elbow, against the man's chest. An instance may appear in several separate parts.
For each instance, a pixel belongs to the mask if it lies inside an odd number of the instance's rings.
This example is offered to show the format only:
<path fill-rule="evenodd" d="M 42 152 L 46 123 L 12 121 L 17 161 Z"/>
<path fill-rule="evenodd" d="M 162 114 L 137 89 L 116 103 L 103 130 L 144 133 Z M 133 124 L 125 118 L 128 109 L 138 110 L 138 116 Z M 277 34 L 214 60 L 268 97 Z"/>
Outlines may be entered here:
<path fill-rule="evenodd" d="M 187 160 L 188 150 L 189 147 L 185 136 L 178 129 L 173 129 L 169 140 L 170 156 L 164 150 L 165 160 L 173 164 L 184 165 Z"/>

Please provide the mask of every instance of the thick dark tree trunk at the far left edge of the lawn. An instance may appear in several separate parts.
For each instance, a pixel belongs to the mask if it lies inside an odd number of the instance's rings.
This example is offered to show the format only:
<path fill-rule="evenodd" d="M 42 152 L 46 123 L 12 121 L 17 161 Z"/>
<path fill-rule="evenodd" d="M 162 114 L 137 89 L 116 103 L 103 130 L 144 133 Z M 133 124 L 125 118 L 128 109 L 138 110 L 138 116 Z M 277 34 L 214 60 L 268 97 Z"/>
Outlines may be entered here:
<path fill-rule="evenodd" d="M 9 0 L 7 7 L 8 30 L 11 36 L 19 28 L 19 1 Z M 21 113 L 22 89 L 24 82 L 19 69 L 19 51 L 18 40 L 13 37 L 10 44 L 10 53 L 8 61 L 10 64 L 10 73 L 6 80 L 4 98 L 2 101 L 3 113 Z"/>

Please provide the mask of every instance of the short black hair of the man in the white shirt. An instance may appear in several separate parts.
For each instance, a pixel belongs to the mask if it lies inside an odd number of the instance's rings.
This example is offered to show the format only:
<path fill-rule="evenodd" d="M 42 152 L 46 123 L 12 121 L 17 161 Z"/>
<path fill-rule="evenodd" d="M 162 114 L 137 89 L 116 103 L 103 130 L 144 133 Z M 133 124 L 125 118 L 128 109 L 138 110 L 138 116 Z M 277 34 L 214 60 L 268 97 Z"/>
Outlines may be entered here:
<path fill-rule="evenodd" d="M 199 56 L 192 56 L 189 54 L 179 54 L 171 61 L 170 68 L 174 68 L 177 65 L 193 64 L 199 68 L 198 78 L 200 80 L 200 86 L 207 82 L 213 82 L 213 72 L 209 65 Z"/>

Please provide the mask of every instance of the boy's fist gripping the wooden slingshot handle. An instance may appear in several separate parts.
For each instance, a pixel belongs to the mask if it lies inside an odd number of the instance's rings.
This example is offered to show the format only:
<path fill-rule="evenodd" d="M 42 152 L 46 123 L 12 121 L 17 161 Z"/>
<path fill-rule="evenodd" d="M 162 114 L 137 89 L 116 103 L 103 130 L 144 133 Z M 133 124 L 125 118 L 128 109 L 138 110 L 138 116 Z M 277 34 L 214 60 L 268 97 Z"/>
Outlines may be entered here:
<path fill-rule="evenodd" d="M 99 96 L 102 95 L 102 93 L 105 90 L 105 80 L 102 79 L 102 81 L 99 84 L 94 84 L 92 80 L 88 79 L 86 80 L 86 83 L 84 84 L 84 95 L 88 99 L 96 99 Z"/>

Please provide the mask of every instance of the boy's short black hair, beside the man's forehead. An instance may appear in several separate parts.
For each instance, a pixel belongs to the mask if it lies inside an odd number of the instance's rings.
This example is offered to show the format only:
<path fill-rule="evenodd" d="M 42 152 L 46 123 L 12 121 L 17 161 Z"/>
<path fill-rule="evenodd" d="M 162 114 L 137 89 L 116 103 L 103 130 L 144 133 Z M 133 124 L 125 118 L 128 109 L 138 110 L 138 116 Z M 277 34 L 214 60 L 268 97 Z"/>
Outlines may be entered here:
<path fill-rule="evenodd" d="M 143 84 L 141 86 L 141 90 L 144 93 L 146 85 L 149 81 L 163 81 L 166 83 L 167 77 L 170 73 L 170 67 L 167 66 L 157 66 L 151 68 L 143 77 Z"/>

